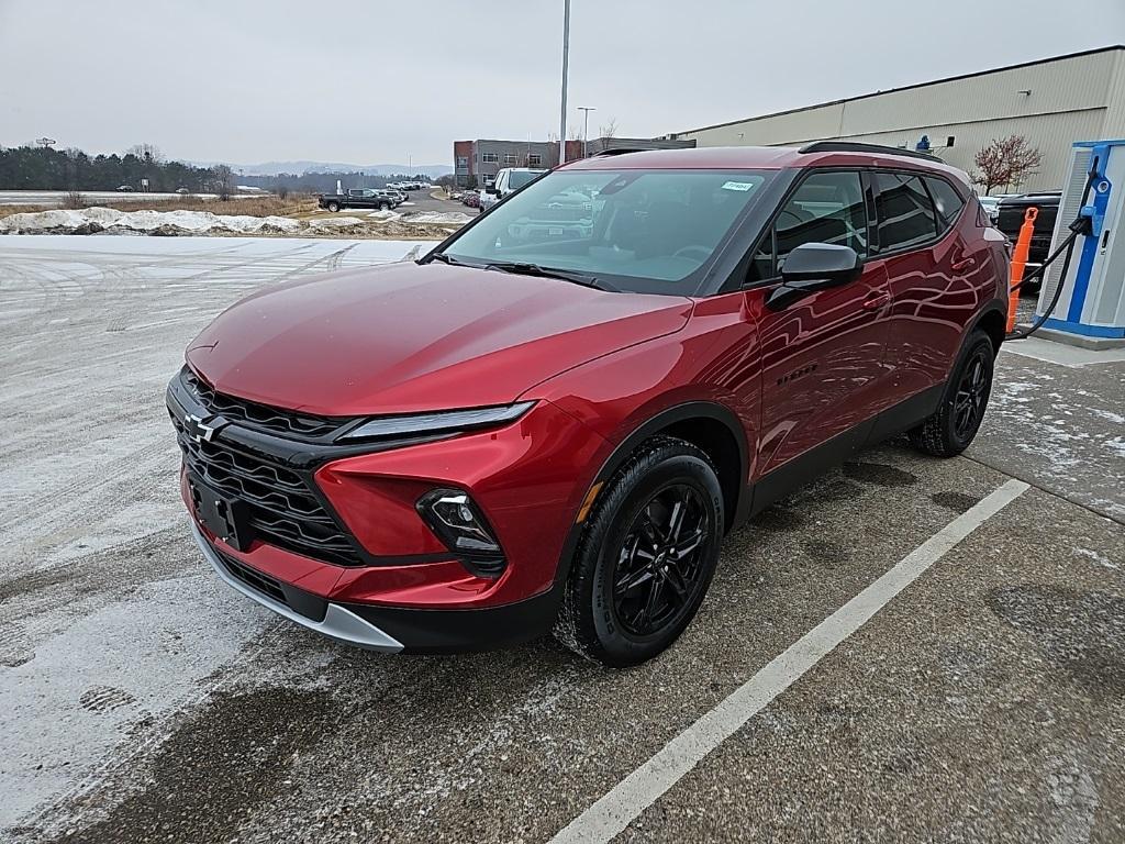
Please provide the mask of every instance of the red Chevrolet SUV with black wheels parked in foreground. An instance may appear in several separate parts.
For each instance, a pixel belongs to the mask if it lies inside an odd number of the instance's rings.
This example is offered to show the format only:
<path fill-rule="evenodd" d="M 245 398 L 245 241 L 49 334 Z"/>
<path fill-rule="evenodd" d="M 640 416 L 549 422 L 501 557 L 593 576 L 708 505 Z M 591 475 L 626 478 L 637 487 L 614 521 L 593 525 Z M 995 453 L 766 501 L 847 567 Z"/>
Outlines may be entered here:
<path fill-rule="evenodd" d="M 168 390 L 183 499 L 223 580 L 335 639 L 634 664 L 748 517 L 890 434 L 972 441 L 1006 266 L 964 174 L 901 150 L 574 162 L 220 315 Z"/>

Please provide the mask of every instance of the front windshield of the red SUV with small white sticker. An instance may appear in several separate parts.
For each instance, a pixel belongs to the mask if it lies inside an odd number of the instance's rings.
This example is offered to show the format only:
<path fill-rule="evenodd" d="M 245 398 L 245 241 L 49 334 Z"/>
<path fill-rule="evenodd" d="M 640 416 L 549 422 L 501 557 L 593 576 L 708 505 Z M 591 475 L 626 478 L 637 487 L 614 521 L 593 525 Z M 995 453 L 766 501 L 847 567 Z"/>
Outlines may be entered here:
<path fill-rule="evenodd" d="M 767 178 L 759 170 L 558 170 L 494 206 L 444 253 L 476 266 L 580 272 L 619 290 L 692 295 Z"/>

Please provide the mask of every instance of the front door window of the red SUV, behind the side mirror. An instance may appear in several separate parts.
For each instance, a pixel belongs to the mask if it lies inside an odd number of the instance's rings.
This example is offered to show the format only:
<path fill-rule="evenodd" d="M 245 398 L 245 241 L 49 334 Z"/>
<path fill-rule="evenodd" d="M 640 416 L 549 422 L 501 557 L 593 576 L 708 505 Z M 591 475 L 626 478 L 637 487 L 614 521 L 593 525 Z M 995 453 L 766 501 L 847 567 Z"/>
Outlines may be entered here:
<path fill-rule="evenodd" d="M 867 212 L 855 171 L 813 172 L 774 222 L 777 268 L 803 243 L 832 243 L 867 254 Z"/>

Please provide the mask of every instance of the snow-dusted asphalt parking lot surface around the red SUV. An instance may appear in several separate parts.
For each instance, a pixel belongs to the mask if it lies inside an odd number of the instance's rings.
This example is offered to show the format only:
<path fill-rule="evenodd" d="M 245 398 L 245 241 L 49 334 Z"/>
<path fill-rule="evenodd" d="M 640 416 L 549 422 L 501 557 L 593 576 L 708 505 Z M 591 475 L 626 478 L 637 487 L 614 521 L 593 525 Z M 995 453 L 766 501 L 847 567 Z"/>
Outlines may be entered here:
<path fill-rule="evenodd" d="M 616 826 L 1125 837 L 1125 354 L 1012 345 L 966 457 L 893 441 L 771 508 L 637 670 L 550 640 L 378 656 L 218 583 L 163 407 L 184 344 L 258 287 L 416 245 L 0 239 L 0 839 L 544 841 L 579 816 L 612 832 L 584 812 L 1014 477 L 1029 487 L 693 770 L 627 791 Z"/>

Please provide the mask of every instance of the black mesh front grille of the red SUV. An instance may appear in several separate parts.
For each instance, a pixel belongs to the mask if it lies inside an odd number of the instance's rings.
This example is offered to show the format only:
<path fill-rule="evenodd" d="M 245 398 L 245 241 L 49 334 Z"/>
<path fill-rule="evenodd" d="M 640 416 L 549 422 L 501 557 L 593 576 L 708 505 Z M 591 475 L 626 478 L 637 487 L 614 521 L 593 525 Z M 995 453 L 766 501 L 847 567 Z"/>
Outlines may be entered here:
<path fill-rule="evenodd" d="M 197 442 L 171 415 L 184 465 L 224 496 L 244 502 L 258 538 L 314 559 L 343 566 L 360 564 L 356 547 L 300 474 L 236 449 L 222 437 Z"/>

